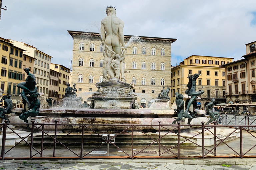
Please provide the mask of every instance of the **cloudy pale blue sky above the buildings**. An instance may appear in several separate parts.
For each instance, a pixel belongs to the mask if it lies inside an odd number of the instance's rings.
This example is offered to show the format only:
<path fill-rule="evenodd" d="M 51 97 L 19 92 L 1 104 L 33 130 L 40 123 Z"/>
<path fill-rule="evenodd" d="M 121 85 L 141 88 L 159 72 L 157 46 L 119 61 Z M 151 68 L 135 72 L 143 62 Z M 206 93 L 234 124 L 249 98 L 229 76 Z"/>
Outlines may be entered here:
<path fill-rule="evenodd" d="M 245 55 L 256 41 L 255 0 L 3 0 L 0 37 L 34 45 L 70 67 L 67 30 L 98 32 L 106 6 L 116 6 L 127 35 L 177 38 L 172 66 L 191 55 Z"/>

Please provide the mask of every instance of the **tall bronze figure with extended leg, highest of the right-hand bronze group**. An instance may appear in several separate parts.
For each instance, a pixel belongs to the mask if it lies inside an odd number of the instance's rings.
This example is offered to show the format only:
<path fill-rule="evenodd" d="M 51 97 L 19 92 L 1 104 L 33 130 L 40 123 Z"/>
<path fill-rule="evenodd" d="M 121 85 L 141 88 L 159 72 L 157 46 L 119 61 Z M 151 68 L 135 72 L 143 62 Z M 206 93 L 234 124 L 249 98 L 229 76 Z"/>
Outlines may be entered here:
<path fill-rule="evenodd" d="M 191 99 L 189 100 L 188 102 L 188 105 L 187 105 L 187 108 L 186 108 L 186 111 L 185 111 L 185 114 L 188 113 L 188 110 L 189 110 L 189 107 L 193 104 L 194 100 L 196 99 L 197 96 L 200 96 L 201 94 L 204 93 L 204 91 L 196 91 L 196 79 L 199 77 L 199 74 L 194 74 L 194 75 L 190 75 L 188 76 L 188 84 L 187 84 L 187 87 L 188 89 L 185 91 L 185 93 L 188 95 L 188 96 L 191 96 Z"/>

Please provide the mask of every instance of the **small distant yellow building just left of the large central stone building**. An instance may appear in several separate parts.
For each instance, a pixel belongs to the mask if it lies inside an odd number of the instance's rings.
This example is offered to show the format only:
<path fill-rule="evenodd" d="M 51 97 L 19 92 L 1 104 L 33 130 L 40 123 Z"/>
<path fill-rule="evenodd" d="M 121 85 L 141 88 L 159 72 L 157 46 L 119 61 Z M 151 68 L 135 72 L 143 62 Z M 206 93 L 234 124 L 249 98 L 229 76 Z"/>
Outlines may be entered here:
<path fill-rule="evenodd" d="M 67 83 L 70 83 L 70 69 L 60 64 L 51 63 L 51 70 L 59 73 L 58 103 L 62 105 L 62 99 L 65 95 L 65 88 L 67 87 Z"/>

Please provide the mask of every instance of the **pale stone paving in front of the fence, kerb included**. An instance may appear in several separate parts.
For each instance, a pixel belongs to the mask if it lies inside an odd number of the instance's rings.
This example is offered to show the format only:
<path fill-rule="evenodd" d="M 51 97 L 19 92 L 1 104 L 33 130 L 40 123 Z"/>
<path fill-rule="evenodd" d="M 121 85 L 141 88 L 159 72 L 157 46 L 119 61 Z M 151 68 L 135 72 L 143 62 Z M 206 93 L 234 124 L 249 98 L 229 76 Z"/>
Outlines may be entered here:
<path fill-rule="evenodd" d="M 136 162 L 131 160 L 6 160 L 0 162 L 0 169 L 4 170 L 256 170 L 255 159 L 207 159 L 207 160 L 174 160 L 169 161 L 159 159 L 137 159 Z M 104 162 L 107 161 L 107 162 Z M 120 161 L 120 162 L 119 162 Z M 180 163 L 168 163 L 168 162 Z M 37 163 L 36 163 L 37 162 Z M 51 163 L 54 162 L 54 163 Z M 72 162 L 72 163 L 65 163 Z M 144 163 L 143 163 L 144 162 Z M 182 163 L 183 162 L 183 163 Z M 186 164 L 186 162 L 188 164 Z M 207 163 L 216 162 L 216 165 Z M 226 162 L 227 164 L 218 164 Z M 228 164 L 230 163 L 230 164 Z M 242 164 L 238 164 L 242 163 Z M 252 164 L 255 163 L 255 164 Z"/>

